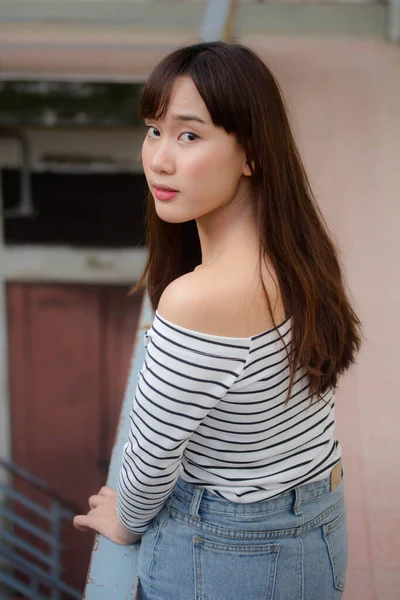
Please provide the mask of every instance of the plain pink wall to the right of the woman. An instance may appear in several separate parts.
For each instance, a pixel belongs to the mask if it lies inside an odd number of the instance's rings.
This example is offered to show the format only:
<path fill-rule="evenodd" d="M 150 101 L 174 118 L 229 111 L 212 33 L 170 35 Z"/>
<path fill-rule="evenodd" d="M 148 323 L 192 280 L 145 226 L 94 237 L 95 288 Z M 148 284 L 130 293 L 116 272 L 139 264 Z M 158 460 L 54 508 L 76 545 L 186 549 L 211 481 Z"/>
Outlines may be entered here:
<path fill-rule="evenodd" d="M 364 325 L 339 381 L 345 600 L 400 598 L 400 46 L 248 38 L 276 73 Z M 321 599 L 322 600 L 322 599 Z"/>

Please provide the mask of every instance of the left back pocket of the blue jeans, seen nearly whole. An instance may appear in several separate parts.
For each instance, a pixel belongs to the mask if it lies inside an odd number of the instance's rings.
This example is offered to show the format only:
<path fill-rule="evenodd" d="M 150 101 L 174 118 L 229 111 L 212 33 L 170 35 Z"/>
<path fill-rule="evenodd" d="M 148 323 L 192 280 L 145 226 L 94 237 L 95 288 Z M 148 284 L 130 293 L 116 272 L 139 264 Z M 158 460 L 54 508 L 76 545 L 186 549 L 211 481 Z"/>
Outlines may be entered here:
<path fill-rule="evenodd" d="M 273 600 L 278 544 L 193 538 L 196 600 Z"/>

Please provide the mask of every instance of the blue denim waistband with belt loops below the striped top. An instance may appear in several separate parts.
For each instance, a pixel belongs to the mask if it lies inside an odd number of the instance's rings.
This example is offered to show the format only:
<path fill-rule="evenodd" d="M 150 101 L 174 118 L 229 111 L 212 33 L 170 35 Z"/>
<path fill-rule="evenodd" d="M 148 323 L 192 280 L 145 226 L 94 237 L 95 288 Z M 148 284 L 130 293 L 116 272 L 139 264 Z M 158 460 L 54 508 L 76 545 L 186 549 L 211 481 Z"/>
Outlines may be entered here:
<path fill-rule="evenodd" d="M 247 504 L 231 502 L 213 494 L 206 487 L 178 478 L 174 494 L 190 505 L 191 516 L 198 518 L 200 504 L 202 509 L 221 510 L 224 513 L 249 514 L 272 512 L 279 509 L 292 507 L 296 515 L 302 512 L 302 504 L 309 500 L 329 494 L 338 487 L 343 478 L 343 467 L 341 459 L 332 468 L 331 473 L 319 481 L 300 484 L 289 491 L 282 492 L 278 496 L 250 502 Z"/>

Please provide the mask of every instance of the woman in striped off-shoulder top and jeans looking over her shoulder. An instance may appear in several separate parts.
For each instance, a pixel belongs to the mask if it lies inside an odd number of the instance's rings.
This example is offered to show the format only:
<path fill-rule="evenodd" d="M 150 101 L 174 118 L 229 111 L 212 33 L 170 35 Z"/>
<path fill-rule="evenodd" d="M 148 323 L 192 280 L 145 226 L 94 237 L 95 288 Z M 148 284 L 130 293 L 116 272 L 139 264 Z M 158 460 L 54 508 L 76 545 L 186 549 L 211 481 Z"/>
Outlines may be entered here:
<path fill-rule="evenodd" d="M 141 540 L 143 600 L 333 600 L 338 376 L 361 324 L 279 87 L 250 49 L 166 56 L 142 95 L 146 331 L 118 492 L 77 528 Z"/>

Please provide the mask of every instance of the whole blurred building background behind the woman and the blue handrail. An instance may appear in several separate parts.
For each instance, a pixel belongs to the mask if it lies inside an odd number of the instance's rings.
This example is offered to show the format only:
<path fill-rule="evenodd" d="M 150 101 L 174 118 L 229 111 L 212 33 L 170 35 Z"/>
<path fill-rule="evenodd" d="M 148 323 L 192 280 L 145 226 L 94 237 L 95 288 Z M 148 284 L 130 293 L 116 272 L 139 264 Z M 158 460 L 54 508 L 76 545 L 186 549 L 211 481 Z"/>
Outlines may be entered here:
<path fill-rule="evenodd" d="M 275 73 L 339 246 L 365 335 L 336 401 L 344 597 L 398 600 L 399 0 L 0 0 L 0 598 L 82 597 L 71 515 L 106 482 L 142 310 L 137 102 L 200 39 Z"/>

